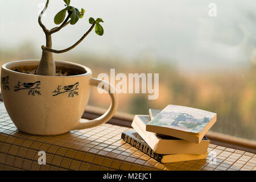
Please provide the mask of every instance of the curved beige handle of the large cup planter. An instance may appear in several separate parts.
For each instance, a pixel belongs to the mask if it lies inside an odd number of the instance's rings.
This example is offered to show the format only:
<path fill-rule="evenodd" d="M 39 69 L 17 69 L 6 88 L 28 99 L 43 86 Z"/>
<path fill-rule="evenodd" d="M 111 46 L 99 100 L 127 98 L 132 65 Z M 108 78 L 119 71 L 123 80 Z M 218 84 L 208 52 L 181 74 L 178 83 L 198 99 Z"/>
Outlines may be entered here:
<path fill-rule="evenodd" d="M 117 91 L 115 90 L 114 86 L 110 85 L 109 82 L 106 82 L 104 80 L 96 79 L 96 78 L 90 78 L 90 86 L 104 86 L 104 90 L 109 93 L 109 96 L 111 98 L 111 104 L 109 106 L 109 109 L 101 115 L 100 117 L 89 120 L 89 121 L 81 121 L 78 123 L 78 125 L 73 130 L 82 130 L 82 129 L 88 129 L 90 127 L 95 127 L 104 124 L 105 122 L 109 121 L 110 118 L 113 117 L 115 114 L 115 111 L 117 111 L 118 106 L 118 96 Z"/>

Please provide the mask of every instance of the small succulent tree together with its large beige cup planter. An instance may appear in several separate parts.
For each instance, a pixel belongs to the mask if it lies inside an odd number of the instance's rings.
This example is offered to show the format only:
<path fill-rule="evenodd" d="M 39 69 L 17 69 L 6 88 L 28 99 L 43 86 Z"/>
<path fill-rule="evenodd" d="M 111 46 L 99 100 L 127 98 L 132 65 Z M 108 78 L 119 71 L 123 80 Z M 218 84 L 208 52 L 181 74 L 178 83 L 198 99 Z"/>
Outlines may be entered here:
<path fill-rule="evenodd" d="M 53 60 L 53 53 L 63 53 L 75 48 L 95 28 L 98 35 L 104 30 L 101 18 L 89 18 L 89 30 L 71 47 L 63 50 L 52 48 L 52 34 L 84 16 L 64 0 L 65 8 L 56 14 L 58 27 L 48 30 L 42 23 L 46 2 L 38 23 L 46 35 L 46 46 L 42 46 L 41 60 L 12 61 L 2 66 L 1 89 L 3 102 L 10 118 L 19 130 L 36 135 L 63 134 L 69 130 L 85 129 L 107 122 L 115 113 L 118 97 L 108 82 L 92 78 L 92 71 L 80 64 Z M 81 121 L 81 115 L 89 99 L 90 88 L 100 85 L 110 94 L 111 105 L 104 115 L 92 121 Z M 103 87 L 104 86 L 104 87 Z"/>

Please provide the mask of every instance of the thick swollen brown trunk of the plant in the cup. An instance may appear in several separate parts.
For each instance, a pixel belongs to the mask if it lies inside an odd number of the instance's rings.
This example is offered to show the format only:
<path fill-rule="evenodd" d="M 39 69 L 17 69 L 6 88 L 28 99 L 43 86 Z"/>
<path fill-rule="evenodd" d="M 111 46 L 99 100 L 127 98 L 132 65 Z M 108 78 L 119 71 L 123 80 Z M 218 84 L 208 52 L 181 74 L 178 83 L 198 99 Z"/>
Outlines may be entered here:
<path fill-rule="evenodd" d="M 52 48 L 51 35 L 46 36 L 46 47 Z M 40 60 L 38 69 L 36 70 L 36 75 L 44 75 L 44 76 L 56 75 L 56 67 L 53 61 L 52 52 L 43 50 L 42 58 Z"/>

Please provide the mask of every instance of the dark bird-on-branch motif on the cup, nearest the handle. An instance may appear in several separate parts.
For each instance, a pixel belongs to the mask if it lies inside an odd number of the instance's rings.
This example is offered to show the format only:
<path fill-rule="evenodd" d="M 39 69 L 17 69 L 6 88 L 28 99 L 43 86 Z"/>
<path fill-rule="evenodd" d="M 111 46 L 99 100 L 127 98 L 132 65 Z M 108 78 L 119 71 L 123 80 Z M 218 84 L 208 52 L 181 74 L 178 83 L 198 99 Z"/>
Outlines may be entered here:
<path fill-rule="evenodd" d="M 52 92 L 52 96 L 57 96 L 62 93 L 68 93 L 68 97 L 75 97 L 79 96 L 79 92 L 76 90 L 79 90 L 79 82 L 76 82 L 75 84 L 72 85 L 66 85 L 66 86 L 61 86 L 58 85 L 57 88 Z"/>

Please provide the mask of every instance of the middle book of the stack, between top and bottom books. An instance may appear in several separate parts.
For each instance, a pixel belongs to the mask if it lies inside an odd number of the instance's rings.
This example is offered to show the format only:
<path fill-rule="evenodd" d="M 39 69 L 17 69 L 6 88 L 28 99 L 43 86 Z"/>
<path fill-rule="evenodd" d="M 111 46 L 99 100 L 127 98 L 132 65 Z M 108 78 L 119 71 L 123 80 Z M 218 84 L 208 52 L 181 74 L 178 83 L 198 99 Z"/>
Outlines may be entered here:
<path fill-rule="evenodd" d="M 149 115 L 135 115 L 131 126 L 137 131 L 144 141 L 158 154 L 205 154 L 210 140 L 204 137 L 200 143 L 158 135 L 146 131 L 146 125 L 151 121 Z"/>

